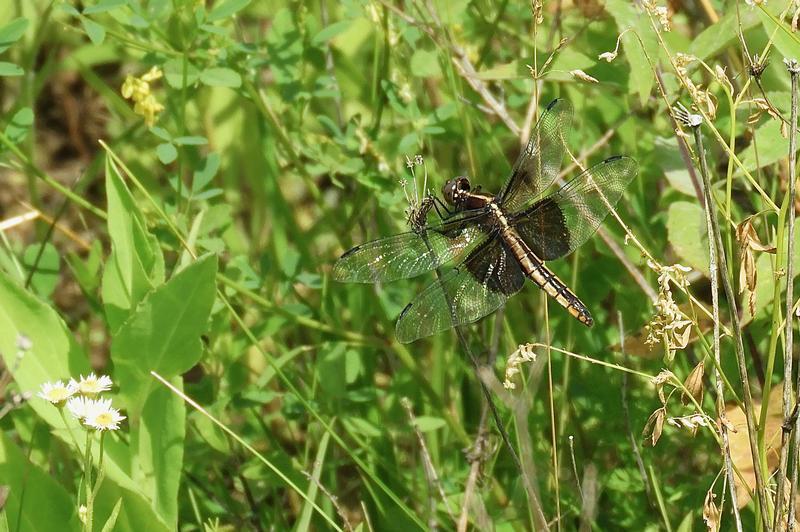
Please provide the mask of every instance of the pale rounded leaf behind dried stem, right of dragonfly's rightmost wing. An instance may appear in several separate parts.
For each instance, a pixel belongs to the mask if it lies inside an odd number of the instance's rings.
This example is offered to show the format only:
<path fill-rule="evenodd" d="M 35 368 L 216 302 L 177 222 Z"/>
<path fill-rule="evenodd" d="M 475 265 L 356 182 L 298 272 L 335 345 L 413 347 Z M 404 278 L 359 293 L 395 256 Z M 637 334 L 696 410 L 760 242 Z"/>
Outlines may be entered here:
<path fill-rule="evenodd" d="M 708 235 L 703 209 L 687 201 L 671 204 L 667 212 L 667 234 L 681 262 L 708 276 Z"/>

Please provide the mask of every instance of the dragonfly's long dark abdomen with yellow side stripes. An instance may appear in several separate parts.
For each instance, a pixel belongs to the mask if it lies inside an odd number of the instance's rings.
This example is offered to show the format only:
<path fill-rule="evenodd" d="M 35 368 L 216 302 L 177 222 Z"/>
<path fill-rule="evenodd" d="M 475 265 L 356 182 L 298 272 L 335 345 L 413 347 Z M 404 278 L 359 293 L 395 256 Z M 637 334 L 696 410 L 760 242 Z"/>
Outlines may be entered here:
<path fill-rule="evenodd" d="M 558 301 L 578 321 L 587 327 L 591 327 L 594 324 L 594 319 L 592 319 L 592 315 L 586 305 L 583 304 L 583 301 L 578 299 L 578 296 L 544 265 L 544 262 L 531 251 L 514 228 L 505 227 L 502 235 L 503 240 L 511 248 L 520 266 L 522 266 L 522 271 L 525 272 L 525 275 L 536 283 L 539 288 L 547 292 L 547 295 Z"/>

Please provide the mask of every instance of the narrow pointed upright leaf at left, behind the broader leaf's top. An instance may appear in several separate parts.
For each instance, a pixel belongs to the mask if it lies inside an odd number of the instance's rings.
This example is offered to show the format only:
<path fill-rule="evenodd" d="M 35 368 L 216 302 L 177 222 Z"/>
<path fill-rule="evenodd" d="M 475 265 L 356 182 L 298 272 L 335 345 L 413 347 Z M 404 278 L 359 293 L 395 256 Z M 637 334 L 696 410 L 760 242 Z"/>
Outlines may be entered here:
<path fill-rule="evenodd" d="M 147 292 L 164 282 L 164 257 L 110 157 L 106 158 L 106 196 L 111 254 L 103 272 L 102 293 L 113 332 Z"/>

